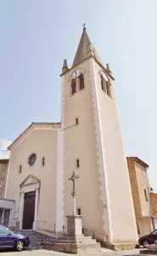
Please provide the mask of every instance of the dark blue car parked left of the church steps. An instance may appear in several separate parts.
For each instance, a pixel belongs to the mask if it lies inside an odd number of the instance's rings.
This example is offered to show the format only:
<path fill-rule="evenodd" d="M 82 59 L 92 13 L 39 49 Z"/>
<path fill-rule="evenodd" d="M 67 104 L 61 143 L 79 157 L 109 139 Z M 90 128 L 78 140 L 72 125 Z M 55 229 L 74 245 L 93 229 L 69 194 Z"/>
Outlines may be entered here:
<path fill-rule="evenodd" d="M 29 247 L 30 242 L 28 236 L 14 234 L 3 225 L 0 225 L 0 248 L 14 248 L 14 250 L 20 252 L 24 247 Z"/>

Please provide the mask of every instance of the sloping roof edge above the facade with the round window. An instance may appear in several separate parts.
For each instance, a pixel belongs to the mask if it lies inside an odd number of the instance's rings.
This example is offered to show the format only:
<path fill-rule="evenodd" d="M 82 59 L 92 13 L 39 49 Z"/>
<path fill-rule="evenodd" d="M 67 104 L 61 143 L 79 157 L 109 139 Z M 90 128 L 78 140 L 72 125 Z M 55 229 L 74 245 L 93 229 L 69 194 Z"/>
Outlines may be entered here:
<path fill-rule="evenodd" d="M 48 123 L 48 122 L 32 122 L 30 126 L 28 126 L 25 131 L 23 131 L 19 137 L 17 137 L 13 143 L 8 147 L 8 150 L 11 150 L 14 148 L 14 145 L 16 143 L 19 143 L 20 140 L 22 140 L 27 133 L 29 133 L 34 127 L 52 127 L 54 129 L 59 129 L 60 128 L 60 123 Z"/>

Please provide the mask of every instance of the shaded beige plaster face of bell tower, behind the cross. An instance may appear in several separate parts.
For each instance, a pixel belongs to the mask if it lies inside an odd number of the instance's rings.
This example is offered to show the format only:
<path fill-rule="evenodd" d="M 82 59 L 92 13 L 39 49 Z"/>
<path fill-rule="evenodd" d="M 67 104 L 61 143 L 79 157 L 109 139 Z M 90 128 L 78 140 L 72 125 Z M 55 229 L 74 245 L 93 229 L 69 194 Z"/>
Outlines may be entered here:
<path fill-rule="evenodd" d="M 76 67 L 77 68 L 77 67 Z M 103 201 L 99 189 L 98 138 L 93 115 L 93 95 L 89 61 L 78 68 L 84 73 L 85 88 L 70 96 L 70 73 L 64 75 L 64 223 L 71 214 L 72 183 L 68 181 L 72 172 L 80 178 L 76 180 L 76 208 L 81 207 L 82 224 L 87 229 L 104 233 Z M 79 125 L 75 125 L 76 117 Z M 76 158 L 80 168 L 76 169 Z"/>

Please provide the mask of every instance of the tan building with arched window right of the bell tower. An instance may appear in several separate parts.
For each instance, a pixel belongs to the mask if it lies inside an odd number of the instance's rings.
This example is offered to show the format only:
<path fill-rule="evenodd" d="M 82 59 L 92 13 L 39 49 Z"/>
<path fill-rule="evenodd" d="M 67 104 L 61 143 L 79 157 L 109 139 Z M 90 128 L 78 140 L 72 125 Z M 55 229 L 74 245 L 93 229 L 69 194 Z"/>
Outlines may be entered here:
<path fill-rule="evenodd" d="M 157 228 L 157 195 L 149 184 L 149 165 L 137 157 L 127 157 L 132 198 L 139 236 Z"/>

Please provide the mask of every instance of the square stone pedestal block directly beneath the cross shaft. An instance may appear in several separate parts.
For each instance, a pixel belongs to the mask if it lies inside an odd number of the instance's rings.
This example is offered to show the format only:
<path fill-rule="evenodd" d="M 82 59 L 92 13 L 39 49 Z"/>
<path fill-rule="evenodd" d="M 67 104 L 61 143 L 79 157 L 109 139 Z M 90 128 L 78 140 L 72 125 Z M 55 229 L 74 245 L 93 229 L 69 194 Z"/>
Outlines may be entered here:
<path fill-rule="evenodd" d="M 67 218 L 67 236 L 82 236 L 82 216 L 69 215 Z"/>

